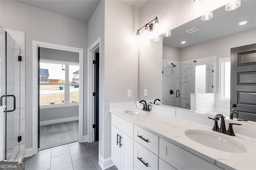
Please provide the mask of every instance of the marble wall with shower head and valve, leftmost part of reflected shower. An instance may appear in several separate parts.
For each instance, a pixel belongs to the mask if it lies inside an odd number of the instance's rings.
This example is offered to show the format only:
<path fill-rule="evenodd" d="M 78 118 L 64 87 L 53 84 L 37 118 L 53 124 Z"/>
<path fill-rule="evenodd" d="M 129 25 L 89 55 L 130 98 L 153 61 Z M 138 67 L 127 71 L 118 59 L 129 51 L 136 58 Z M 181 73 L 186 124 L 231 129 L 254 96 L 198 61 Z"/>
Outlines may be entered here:
<path fill-rule="evenodd" d="M 176 67 L 172 67 L 172 63 Z M 180 90 L 180 63 L 163 59 L 162 75 L 162 104 L 180 107 L 180 97 L 176 97 L 176 91 Z M 174 94 L 171 95 L 170 90 L 173 90 Z"/>

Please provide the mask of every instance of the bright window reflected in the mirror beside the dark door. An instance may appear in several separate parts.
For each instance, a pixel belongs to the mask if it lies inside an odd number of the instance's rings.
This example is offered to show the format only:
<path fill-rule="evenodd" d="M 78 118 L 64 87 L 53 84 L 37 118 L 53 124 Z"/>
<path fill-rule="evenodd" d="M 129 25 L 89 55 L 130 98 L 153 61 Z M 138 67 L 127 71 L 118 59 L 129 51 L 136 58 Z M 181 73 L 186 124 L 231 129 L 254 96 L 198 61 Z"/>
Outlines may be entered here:
<path fill-rule="evenodd" d="M 230 100 L 230 57 L 219 59 L 219 93 L 221 100 Z"/>

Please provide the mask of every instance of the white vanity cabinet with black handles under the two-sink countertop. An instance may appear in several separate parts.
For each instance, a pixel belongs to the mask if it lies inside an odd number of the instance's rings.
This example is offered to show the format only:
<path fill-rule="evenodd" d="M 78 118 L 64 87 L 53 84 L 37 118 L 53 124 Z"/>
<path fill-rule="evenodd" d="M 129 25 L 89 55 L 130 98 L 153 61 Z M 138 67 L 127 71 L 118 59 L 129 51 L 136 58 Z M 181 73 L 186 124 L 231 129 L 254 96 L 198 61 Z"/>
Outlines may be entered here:
<path fill-rule="evenodd" d="M 221 169 L 114 114 L 112 161 L 119 170 Z"/>

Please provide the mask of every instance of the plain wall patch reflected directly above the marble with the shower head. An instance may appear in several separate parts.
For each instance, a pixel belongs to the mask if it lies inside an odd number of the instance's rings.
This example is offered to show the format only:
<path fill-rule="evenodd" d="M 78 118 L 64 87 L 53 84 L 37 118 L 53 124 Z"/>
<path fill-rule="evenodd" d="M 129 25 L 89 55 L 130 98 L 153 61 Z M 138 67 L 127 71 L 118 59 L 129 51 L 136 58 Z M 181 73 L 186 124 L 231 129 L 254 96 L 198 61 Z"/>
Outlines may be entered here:
<path fill-rule="evenodd" d="M 180 49 L 163 45 L 163 59 L 180 62 Z"/>

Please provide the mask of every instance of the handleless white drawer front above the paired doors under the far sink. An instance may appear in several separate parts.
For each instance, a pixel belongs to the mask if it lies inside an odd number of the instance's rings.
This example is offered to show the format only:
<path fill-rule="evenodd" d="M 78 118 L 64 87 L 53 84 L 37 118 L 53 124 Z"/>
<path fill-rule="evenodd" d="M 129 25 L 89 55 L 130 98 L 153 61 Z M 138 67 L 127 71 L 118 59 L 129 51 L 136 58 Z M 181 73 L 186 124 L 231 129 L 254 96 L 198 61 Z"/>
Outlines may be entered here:
<path fill-rule="evenodd" d="M 112 125 L 122 130 L 124 133 L 128 134 L 133 138 L 133 124 L 112 114 Z"/>

